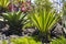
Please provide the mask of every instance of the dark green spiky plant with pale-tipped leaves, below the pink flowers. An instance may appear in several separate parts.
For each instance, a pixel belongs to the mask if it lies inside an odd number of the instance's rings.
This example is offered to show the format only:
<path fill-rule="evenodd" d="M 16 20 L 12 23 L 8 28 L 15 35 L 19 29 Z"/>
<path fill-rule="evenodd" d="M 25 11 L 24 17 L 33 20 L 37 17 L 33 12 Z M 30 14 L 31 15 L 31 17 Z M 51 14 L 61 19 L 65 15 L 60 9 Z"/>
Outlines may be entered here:
<path fill-rule="evenodd" d="M 26 14 L 22 12 L 8 12 L 3 13 L 3 19 L 7 20 L 7 24 L 10 26 L 10 33 L 22 33 L 22 28 L 29 21 Z"/>

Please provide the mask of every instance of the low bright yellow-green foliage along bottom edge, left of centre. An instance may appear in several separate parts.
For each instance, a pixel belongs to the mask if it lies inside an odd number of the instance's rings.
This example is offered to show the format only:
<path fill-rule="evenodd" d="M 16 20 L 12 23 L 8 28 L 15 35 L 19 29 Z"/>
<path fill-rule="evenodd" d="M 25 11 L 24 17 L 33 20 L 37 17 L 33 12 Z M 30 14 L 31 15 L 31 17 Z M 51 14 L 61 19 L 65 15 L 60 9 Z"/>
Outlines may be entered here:
<path fill-rule="evenodd" d="M 12 44 L 42 44 L 42 42 L 35 41 L 31 36 L 24 36 L 19 38 L 11 38 Z"/>

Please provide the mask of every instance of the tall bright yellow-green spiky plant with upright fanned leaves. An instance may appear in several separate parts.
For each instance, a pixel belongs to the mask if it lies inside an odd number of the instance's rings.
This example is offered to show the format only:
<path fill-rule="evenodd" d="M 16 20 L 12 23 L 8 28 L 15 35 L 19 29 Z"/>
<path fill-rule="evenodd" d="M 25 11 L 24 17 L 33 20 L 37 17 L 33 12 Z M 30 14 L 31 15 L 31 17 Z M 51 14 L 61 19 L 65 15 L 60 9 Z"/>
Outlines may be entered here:
<path fill-rule="evenodd" d="M 61 19 L 61 14 L 55 11 L 47 12 L 46 9 L 38 9 L 30 13 L 30 20 L 48 38 L 48 33 Z M 47 40 L 46 40 L 47 41 Z"/>

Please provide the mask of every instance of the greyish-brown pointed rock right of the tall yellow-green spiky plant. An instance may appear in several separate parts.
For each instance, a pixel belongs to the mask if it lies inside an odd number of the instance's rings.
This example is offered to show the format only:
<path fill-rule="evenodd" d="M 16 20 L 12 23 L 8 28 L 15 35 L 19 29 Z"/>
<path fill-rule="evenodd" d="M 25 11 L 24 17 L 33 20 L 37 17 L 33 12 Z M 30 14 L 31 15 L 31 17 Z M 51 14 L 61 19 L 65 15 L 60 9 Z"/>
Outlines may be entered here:
<path fill-rule="evenodd" d="M 63 35 L 63 26 L 59 23 L 57 23 L 55 29 L 52 30 L 51 34 L 52 34 L 52 36 L 56 36 L 56 37 Z"/>

